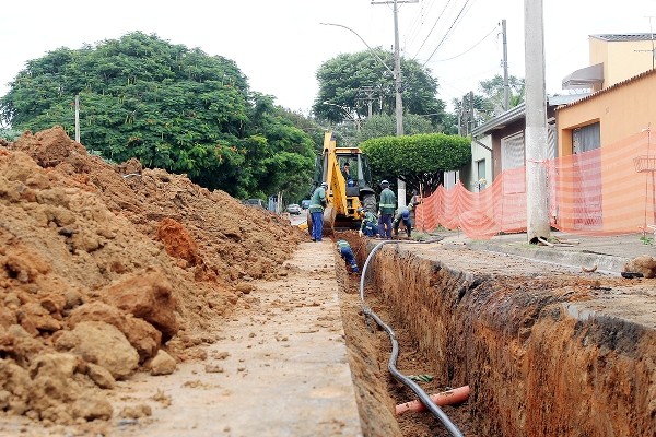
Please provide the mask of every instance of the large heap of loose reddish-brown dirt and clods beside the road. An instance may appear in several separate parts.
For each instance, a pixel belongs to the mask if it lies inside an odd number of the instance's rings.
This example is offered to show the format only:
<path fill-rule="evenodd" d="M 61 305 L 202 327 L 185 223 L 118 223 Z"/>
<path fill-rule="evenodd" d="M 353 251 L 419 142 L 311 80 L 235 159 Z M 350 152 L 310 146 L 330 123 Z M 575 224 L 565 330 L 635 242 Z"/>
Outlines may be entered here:
<path fill-rule="evenodd" d="M 103 390 L 203 359 L 210 328 L 303 238 L 186 176 L 107 164 L 59 127 L 0 144 L 0 411 L 115 416 Z"/>

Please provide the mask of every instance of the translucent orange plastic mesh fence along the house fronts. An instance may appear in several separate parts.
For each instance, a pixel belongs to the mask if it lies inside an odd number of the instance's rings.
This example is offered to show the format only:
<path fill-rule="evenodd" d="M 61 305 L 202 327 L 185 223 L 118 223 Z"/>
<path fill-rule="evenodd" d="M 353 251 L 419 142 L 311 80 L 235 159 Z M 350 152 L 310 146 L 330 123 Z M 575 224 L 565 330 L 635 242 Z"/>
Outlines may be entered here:
<path fill-rule="evenodd" d="M 631 234 L 656 224 L 656 144 L 649 131 L 550 160 L 550 223 L 581 235 Z M 526 231 L 526 169 L 505 170 L 480 192 L 440 187 L 415 210 L 415 227 L 460 228 L 475 239 Z"/>

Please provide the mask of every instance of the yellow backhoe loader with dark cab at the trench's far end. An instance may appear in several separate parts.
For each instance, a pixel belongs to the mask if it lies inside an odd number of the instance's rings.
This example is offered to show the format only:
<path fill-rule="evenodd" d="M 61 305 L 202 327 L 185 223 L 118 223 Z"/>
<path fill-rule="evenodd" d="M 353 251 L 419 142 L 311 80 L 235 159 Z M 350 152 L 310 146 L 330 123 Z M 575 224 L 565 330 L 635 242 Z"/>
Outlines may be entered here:
<path fill-rule="evenodd" d="M 348 170 L 344 170 L 348 167 Z M 371 188 L 371 169 L 366 155 L 358 147 L 338 147 L 331 131 L 324 133 L 324 151 L 317 156 L 313 190 L 323 181 L 327 206 L 324 210 L 324 236 L 335 229 L 359 228 L 362 214 L 359 208 L 375 213 L 376 193 Z M 307 213 L 307 226 L 312 235 L 312 214 Z"/>

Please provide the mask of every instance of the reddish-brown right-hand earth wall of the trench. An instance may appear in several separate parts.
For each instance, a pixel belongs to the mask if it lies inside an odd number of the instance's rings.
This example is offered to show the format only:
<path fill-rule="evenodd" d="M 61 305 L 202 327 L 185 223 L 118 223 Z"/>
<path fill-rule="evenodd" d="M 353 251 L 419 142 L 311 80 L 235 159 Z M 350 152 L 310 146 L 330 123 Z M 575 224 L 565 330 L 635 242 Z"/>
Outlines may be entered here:
<path fill-rule="evenodd" d="M 366 283 L 432 357 L 433 375 L 471 387 L 476 435 L 656 435 L 655 331 L 572 310 L 598 282 L 475 272 L 467 251 L 418 246 L 385 246 Z"/>

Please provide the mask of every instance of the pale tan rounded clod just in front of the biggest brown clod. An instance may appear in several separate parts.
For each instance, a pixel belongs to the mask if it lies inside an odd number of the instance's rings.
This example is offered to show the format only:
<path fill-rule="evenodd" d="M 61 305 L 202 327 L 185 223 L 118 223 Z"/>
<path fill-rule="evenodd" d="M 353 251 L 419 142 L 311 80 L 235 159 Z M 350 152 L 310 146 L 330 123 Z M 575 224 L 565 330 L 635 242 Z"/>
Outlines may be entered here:
<path fill-rule="evenodd" d="M 105 367 L 115 379 L 132 374 L 139 354 L 115 326 L 102 321 L 83 321 L 55 342 L 59 351 L 70 351 L 84 361 Z"/>

